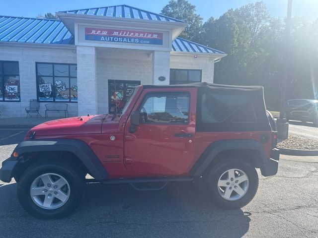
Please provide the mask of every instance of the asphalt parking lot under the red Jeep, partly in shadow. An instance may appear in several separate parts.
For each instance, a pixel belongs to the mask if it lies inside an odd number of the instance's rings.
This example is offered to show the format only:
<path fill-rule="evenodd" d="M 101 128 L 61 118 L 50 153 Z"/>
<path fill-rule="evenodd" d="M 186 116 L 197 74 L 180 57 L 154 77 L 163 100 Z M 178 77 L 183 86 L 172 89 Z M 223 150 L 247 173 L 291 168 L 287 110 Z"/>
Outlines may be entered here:
<path fill-rule="evenodd" d="M 20 132 L 20 133 L 19 133 Z M 0 129 L 0 161 L 26 131 Z M 18 204 L 16 183 L 0 181 L 0 237 L 318 237 L 318 163 L 281 160 L 278 174 L 260 176 L 250 204 L 216 208 L 193 184 L 168 184 L 161 191 L 129 185 L 86 185 L 75 213 L 43 221 Z"/>

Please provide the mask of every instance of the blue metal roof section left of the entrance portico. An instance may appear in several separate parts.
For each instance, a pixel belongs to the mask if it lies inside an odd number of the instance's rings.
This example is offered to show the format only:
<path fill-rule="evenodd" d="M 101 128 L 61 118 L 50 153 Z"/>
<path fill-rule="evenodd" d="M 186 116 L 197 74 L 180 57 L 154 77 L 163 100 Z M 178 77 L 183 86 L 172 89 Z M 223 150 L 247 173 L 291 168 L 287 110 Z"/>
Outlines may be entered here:
<path fill-rule="evenodd" d="M 74 44 L 60 20 L 0 16 L 0 42 Z"/>

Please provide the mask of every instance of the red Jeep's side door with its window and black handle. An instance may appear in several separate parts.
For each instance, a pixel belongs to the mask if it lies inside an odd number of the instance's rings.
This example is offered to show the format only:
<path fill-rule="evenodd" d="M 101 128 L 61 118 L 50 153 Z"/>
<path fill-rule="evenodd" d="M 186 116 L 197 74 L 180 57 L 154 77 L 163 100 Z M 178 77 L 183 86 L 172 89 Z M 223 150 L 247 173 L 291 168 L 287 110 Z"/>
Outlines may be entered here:
<path fill-rule="evenodd" d="M 163 88 L 164 89 L 164 88 Z M 186 174 L 194 163 L 195 88 L 145 89 L 133 111 L 140 125 L 125 125 L 125 166 L 142 177 Z"/>

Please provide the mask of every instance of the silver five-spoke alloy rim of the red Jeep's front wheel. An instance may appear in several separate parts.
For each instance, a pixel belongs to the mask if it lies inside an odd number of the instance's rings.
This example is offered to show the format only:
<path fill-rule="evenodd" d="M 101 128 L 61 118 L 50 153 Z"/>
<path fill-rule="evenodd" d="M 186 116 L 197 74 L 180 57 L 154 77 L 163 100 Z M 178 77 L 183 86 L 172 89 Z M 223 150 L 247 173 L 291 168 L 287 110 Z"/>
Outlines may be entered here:
<path fill-rule="evenodd" d="M 57 209 L 69 199 L 71 188 L 68 181 L 58 174 L 43 174 L 34 179 L 30 187 L 33 202 L 44 209 Z"/>

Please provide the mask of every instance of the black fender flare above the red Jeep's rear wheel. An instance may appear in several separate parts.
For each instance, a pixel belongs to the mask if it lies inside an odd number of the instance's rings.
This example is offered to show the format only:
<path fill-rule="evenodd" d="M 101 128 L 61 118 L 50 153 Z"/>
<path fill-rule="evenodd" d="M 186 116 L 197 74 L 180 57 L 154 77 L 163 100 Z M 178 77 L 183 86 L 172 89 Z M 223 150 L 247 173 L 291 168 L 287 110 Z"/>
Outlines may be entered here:
<path fill-rule="evenodd" d="M 204 171 L 213 162 L 213 160 L 222 152 L 231 150 L 252 150 L 259 154 L 259 157 L 255 158 L 257 164 L 260 165 L 262 170 L 262 165 L 268 163 L 269 159 L 266 158 L 264 149 L 262 145 L 257 140 L 219 140 L 211 143 L 193 167 L 190 170 L 192 176 L 202 176 Z"/>

